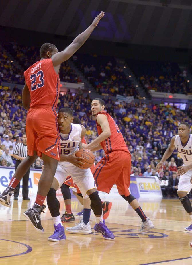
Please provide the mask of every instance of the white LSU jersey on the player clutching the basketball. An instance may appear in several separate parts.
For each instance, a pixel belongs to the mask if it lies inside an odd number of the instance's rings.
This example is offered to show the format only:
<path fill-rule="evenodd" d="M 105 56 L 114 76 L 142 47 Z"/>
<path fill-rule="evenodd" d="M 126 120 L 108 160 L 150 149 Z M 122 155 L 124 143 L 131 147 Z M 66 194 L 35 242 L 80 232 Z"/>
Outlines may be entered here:
<path fill-rule="evenodd" d="M 81 125 L 71 123 L 71 130 L 67 138 L 60 133 L 61 155 L 71 155 L 79 149 L 79 143 L 81 142 Z M 69 162 L 59 162 L 69 163 Z"/>

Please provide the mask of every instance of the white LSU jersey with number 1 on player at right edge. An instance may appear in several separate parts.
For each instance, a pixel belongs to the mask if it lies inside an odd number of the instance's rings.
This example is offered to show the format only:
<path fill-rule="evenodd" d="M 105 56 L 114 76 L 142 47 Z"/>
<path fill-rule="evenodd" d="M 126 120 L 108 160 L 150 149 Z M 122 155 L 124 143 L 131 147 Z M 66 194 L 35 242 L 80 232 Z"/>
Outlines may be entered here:
<path fill-rule="evenodd" d="M 179 135 L 175 137 L 174 142 L 177 152 L 180 153 L 184 165 L 192 164 L 192 135 L 189 135 L 189 140 L 185 145 L 182 145 Z"/>

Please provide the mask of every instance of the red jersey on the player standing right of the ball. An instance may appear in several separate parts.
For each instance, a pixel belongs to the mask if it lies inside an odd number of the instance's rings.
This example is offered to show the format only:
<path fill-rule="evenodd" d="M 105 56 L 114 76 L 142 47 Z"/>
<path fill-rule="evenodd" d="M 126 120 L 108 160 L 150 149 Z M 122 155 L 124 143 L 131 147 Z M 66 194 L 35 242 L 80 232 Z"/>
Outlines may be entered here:
<path fill-rule="evenodd" d="M 113 118 L 109 115 L 109 113 L 107 113 L 106 111 L 100 111 L 97 113 L 97 115 L 98 114 L 104 114 L 105 116 L 107 116 L 109 127 L 111 130 L 111 136 L 109 136 L 107 139 L 105 139 L 100 143 L 103 150 L 105 151 L 105 154 L 108 154 L 112 151 L 120 151 L 120 150 L 130 153 L 124 141 L 123 135 L 119 130 L 119 127 L 117 126 Z M 100 135 L 103 131 L 101 129 L 101 126 L 98 125 L 97 120 L 96 124 L 97 124 L 97 132 Z"/>

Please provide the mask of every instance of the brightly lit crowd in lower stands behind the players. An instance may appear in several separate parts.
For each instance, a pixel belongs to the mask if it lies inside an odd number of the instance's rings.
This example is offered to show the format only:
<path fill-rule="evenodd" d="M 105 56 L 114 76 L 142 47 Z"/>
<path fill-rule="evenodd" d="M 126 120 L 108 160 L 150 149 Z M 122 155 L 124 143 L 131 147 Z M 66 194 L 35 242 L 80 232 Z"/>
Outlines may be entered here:
<path fill-rule="evenodd" d="M 157 176 L 161 181 L 164 194 L 175 196 L 177 181 L 177 166 L 182 164 L 182 159 L 176 151 L 172 160 L 166 161 L 161 172 L 156 172 L 156 164 L 169 145 L 171 137 L 177 134 L 177 126 L 180 122 L 187 121 L 192 124 L 187 111 L 181 111 L 174 106 L 161 104 L 148 105 L 145 103 L 129 103 L 113 101 L 111 97 L 105 99 L 106 110 L 113 116 L 121 130 L 126 145 L 132 155 L 132 176 Z M 58 108 L 69 107 L 74 115 L 78 116 L 87 128 L 86 139 L 89 143 L 97 137 L 95 120 L 91 115 L 91 98 L 81 94 L 68 93 L 61 95 Z M 191 107 L 190 107 L 191 109 Z M 13 91 L 9 87 L 0 86 L 0 160 L 1 166 L 13 166 L 13 150 L 21 141 L 25 133 L 26 111 L 21 104 L 21 91 L 15 86 Z M 95 153 L 97 163 L 103 157 L 103 151 Z M 40 168 L 42 160 L 38 159 L 33 167 Z M 167 180 L 167 182 L 166 182 Z M 164 182 L 163 182 L 164 181 Z M 175 188 L 171 183 L 174 183 Z"/>

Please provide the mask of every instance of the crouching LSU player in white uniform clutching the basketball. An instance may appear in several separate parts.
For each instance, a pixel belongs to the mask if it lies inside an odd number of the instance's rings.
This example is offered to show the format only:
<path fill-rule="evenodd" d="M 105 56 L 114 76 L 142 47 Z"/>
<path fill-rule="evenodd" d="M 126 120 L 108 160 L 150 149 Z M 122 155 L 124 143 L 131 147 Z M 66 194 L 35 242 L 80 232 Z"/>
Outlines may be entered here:
<path fill-rule="evenodd" d="M 61 108 L 58 112 L 58 126 L 60 131 L 61 155 L 52 186 L 47 194 L 47 205 L 54 221 L 54 233 L 48 238 L 49 241 L 66 239 L 64 227 L 59 212 L 59 201 L 56 191 L 64 183 L 67 176 L 71 176 L 77 184 L 83 197 L 87 194 L 91 200 L 91 209 L 96 218 L 95 231 L 101 233 L 104 239 L 114 240 L 113 233 L 105 225 L 102 217 L 102 204 L 95 185 L 95 180 L 90 168 L 82 167 L 83 159 L 77 158 L 75 153 L 82 149 L 81 139 L 85 136 L 86 129 L 83 125 L 73 124 L 73 112 L 69 108 Z M 83 209 L 83 219 L 75 227 L 67 227 L 69 233 L 91 233 L 89 222 L 91 209 Z"/>

